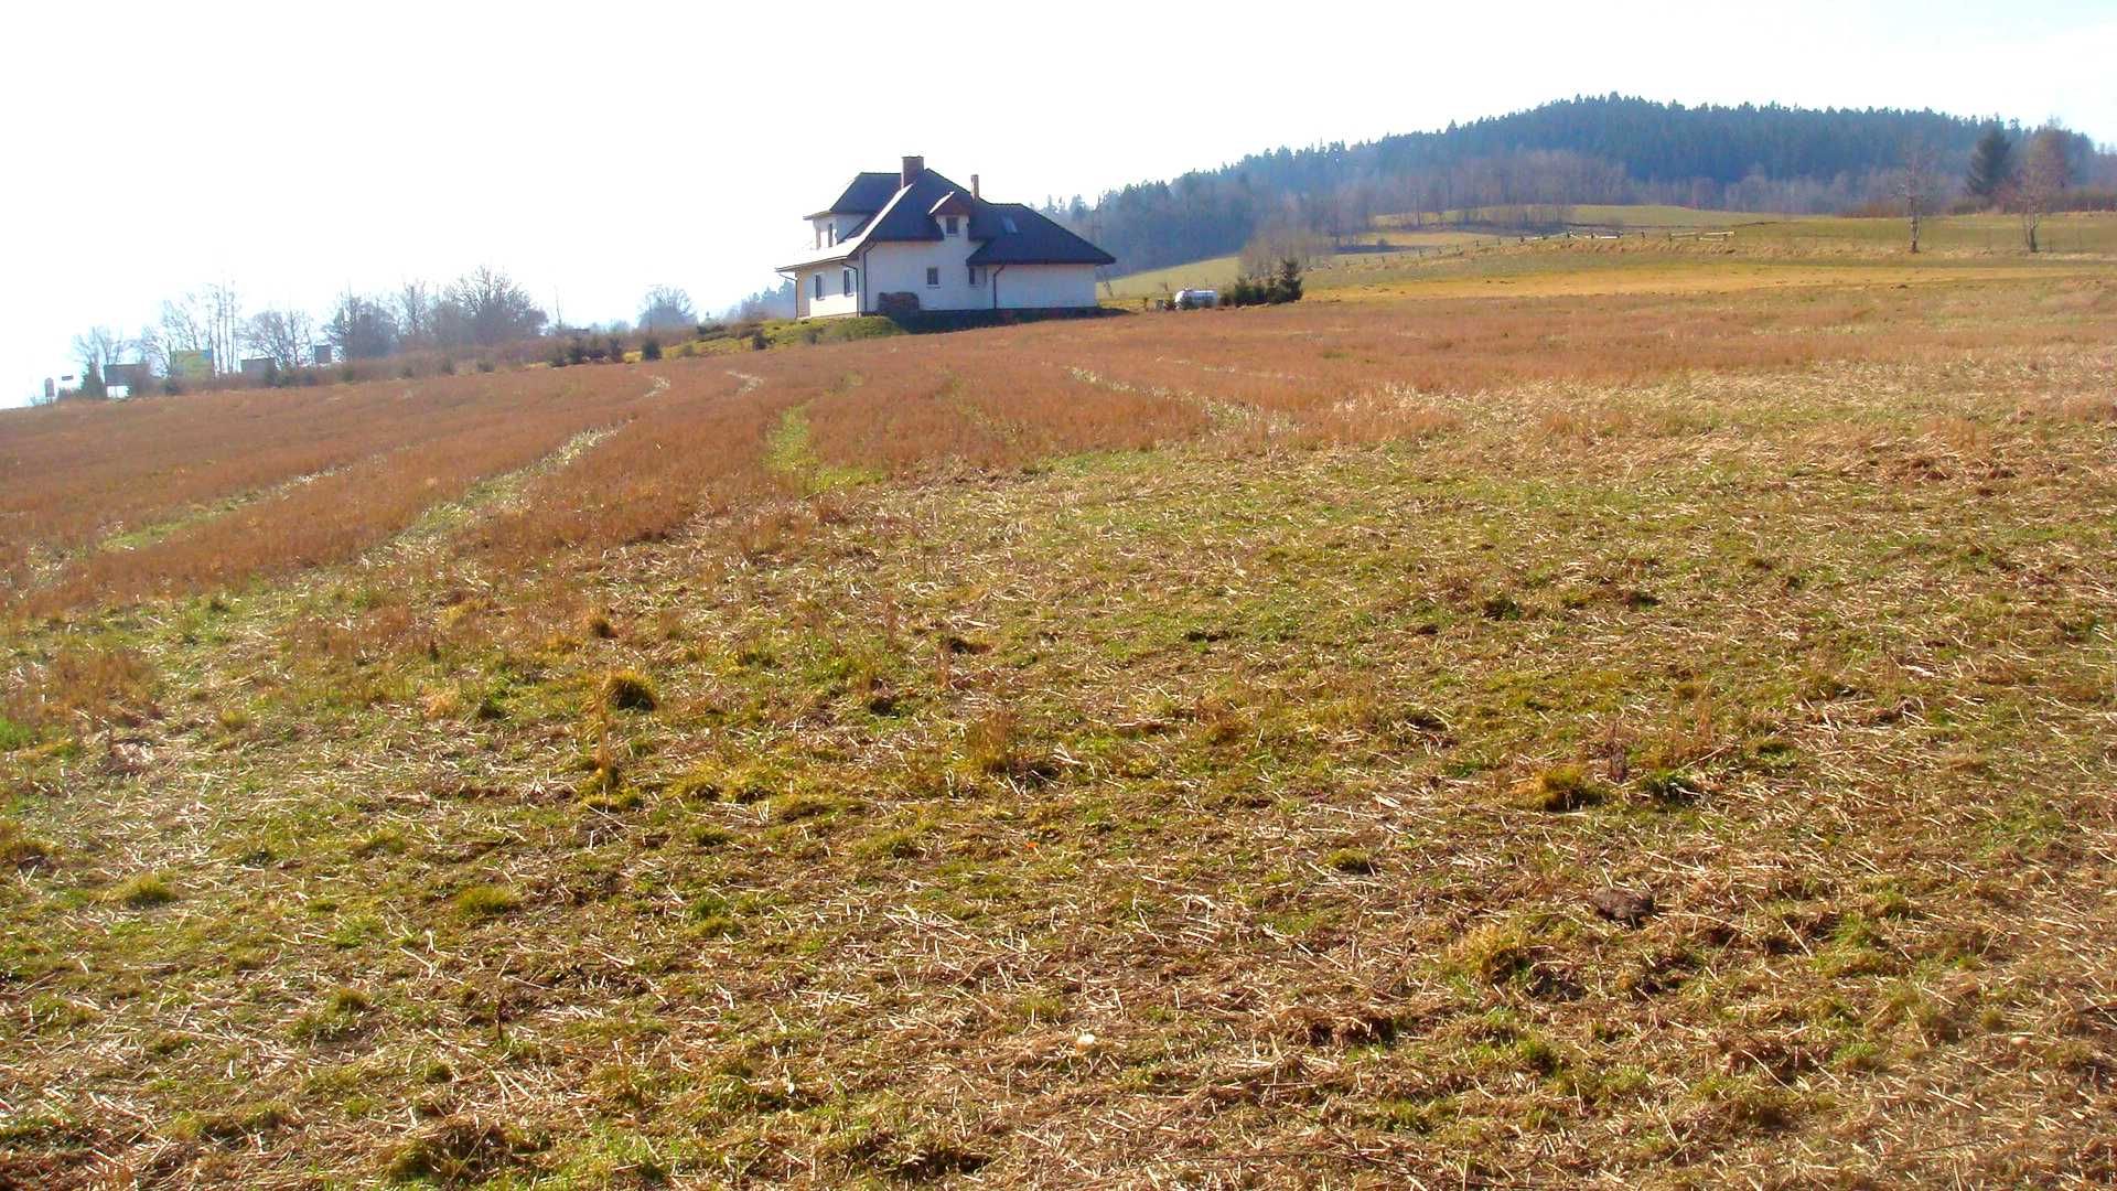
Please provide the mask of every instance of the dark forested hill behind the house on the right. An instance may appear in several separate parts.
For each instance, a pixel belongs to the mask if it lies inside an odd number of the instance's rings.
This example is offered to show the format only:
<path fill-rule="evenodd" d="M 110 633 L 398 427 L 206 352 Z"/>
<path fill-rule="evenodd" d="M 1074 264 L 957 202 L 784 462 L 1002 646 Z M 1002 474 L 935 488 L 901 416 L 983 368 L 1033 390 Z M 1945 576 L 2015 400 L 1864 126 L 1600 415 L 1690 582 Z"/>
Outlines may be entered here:
<path fill-rule="evenodd" d="M 1094 206 L 1075 197 L 1052 214 L 1116 254 L 1122 273 L 1236 252 L 1272 225 L 1336 233 L 1370 214 L 1622 201 L 1842 210 L 1886 189 L 1912 142 L 1931 144 L 1941 172 L 1958 176 L 1988 125 L 1886 108 L 1575 97 L 1444 131 L 1260 153 Z"/>

